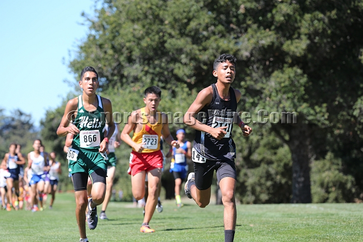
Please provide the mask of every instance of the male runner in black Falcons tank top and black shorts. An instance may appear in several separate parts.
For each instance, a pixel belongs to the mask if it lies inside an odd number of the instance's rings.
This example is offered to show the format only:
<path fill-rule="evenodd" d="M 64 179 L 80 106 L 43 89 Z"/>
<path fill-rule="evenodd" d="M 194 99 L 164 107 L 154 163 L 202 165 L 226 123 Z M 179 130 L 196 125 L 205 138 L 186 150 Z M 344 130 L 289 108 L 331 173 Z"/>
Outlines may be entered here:
<path fill-rule="evenodd" d="M 186 194 L 199 207 L 206 207 L 210 201 L 213 173 L 214 170 L 217 171 L 224 205 L 226 242 L 233 241 L 236 223 L 232 124 L 238 124 L 244 136 L 249 136 L 252 132 L 236 113 L 241 93 L 230 87 L 235 77 L 235 63 L 236 58 L 231 54 L 222 54 L 214 61 L 213 76 L 217 78 L 217 83 L 199 92 L 184 116 L 184 123 L 196 130 L 192 149 L 195 173 L 188 176 Z"/>

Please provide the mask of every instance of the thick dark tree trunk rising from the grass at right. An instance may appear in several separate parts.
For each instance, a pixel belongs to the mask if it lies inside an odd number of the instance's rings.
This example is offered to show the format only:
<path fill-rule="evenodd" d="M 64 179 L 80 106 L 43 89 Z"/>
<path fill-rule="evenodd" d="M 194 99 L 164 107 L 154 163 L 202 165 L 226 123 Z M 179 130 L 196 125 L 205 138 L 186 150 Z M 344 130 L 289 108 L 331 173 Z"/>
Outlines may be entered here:
<path fill-rule="evenodd" d="M 292 158 L 292 198 L 291 203 L 311 203 L 309 145 L 310 131 L 305 124 L 293 126 L 289 130 L 287 145 Z"/>

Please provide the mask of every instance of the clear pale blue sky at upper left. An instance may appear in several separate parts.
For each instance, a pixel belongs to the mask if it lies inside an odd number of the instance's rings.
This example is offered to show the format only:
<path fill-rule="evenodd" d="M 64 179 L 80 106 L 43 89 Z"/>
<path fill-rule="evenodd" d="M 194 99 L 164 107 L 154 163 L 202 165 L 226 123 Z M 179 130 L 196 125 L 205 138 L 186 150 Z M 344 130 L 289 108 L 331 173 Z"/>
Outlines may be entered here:
<path fill-rule="evenodd" d="M 81 13 L 93 16 L 94 6 L 95 0 L 0 1 L 0 108 L 7 115 L 19 108 L 39 126 L 46 110 L 74 90 L 64 82 L 77 83 L 67 66 L 87 37 Z"/>

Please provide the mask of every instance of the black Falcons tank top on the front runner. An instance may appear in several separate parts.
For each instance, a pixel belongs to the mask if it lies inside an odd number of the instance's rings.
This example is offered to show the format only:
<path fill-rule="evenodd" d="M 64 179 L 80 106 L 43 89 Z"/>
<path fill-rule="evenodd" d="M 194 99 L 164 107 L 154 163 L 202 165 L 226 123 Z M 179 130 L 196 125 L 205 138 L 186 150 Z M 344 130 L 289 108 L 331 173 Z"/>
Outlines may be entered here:
<path fill-rule="evenodd" d="M 197 114 L 197 119 L 212 128 L 228 127 L 223 139 L 217 140 L 209 133 L 196 130 L 193 150 L 209 160 L 226 160 L 235 158 L 235 144 L 232 140 L 233 118 L 236 114 L 237 100 L 234 89 L 229 87 L 230 99 L 223 100 L 215 84 L 212 101 L 204 106 Z"/>

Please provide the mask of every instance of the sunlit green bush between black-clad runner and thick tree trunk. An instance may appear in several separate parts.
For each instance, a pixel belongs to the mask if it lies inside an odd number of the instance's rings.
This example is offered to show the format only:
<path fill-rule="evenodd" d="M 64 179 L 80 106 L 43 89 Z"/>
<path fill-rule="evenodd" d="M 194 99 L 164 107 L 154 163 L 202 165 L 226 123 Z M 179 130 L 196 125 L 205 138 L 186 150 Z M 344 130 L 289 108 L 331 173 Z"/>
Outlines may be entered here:
<path fill-rule="evenodd" d="M 242 136 L 238 134 L 238 136 Z M 263 127 L 239 147 L 237 198 L 242 203 L 288 203 L 291 198 L 291 153 L 286 144 Z"/>

